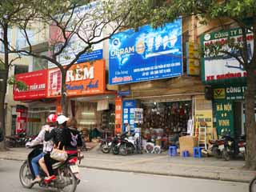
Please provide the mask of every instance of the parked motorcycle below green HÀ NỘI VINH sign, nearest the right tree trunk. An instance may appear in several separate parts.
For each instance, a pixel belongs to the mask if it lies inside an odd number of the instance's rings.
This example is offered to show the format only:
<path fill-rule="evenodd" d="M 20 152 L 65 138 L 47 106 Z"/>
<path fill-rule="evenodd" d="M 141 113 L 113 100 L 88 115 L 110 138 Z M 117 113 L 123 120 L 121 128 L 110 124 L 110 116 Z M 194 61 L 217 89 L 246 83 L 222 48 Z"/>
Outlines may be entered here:
<path fill-rule="evenodd" d="M 246 139 L 242 135 L 238 140 L 231 138 L 230 136 L 225 136 L 224 149 L 222 157 L 225 161 L 230 161 L 230 158 L 237 158 L 239 154 L 242 154 L 242 157 L 246 157 Z"/>

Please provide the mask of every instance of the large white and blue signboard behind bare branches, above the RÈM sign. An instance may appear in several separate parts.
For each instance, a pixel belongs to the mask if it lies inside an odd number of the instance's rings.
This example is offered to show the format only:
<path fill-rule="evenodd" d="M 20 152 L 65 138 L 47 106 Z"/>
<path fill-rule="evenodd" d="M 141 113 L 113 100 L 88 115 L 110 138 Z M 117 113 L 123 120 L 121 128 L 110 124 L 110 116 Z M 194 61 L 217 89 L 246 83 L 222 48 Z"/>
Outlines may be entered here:
<path fill-rule="evenodd" d="M 99 39 L 103 38 L 102 35 L 102 25 L 99 25 L 99 21 L 96 21 L 93 16 L 90 15 L 95 15 L 97 14 L 97 9 L 96 7 L 99 5 L 100 1 L 96 2 L 90 2 L 89 4 L 85 6 L 79 6 L 74 10 L 74 16 L 70 20 L 70 31 L 73 31 L 74 29 L 71 29 L 71 27 L 74 27 L 76 22 L 81 22 L 83 18 L 83 24 L 79 23 L 79 27 L 76 29 L 79 29 L 78 33 L 79 36 L 82 38 L 91 38 L 88 31 L 94 31 L 96 38 L 94 38 L 93 42 L 97 42 Z M 71 10 L 70 10 L 71 12 Z M 85 17 L 86 15 L 86 17 Z M 55 18 L 60 19 L 60 16 L 62 15 L 57 15 Z M 64 18 L 61 18 L 62 21 L 66 22 L 66 19 L 70 18 L 70 14 L 66 14 Z M 92 22 L 93 21 L 93 22 Z M 94 27 L 94 23 L 98 24 L 98 28 L 92 29 Z M 68 30 L 68 29 L 67 29 Z M 66 36 L 68 37 L 70 34 L 66 33 Z M 82 38 L 78 37 L 78 34 L 72 34 L 72 37 L 70 38 L 70 41 L 66 48 L 62 51 L 62 54 L 58 55 L 58 62 L 62 64 L 62 66 L 68 65 L 75 57 L 76 55 L 82 51 L 86 46 L 85 41 L 82 41 Z M 62 30 L 60 30 L 57 26 L 50 26 L 50 44 L 55 45 L 55 52 L 58 51 L 60 46 L 62 45 L 62 42 L 64 42 L 64 38 L 62 35 Z M 57 44 L 56 44 L 57 43 Z M 58 46 L 59 45 L 59 46 Z M 99 42 L 97 44 L 94 44 L 92 46 L 92 50 L 86 52 L 85 54 L 82 54 L 79 58 L 77 63 L 80 62 L 90 62 L 98 59 L 103 58 L 103 42 Z M 56 65 L 52 62 L 48 62 L 48 68 L 54 68 Z"/>

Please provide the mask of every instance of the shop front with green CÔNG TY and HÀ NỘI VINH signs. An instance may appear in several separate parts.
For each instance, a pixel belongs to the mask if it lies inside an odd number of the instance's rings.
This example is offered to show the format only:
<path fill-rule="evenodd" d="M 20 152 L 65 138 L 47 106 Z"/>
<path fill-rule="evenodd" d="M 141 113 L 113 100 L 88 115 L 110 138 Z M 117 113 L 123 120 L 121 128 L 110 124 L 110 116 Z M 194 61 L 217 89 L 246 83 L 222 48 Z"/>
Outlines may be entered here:
<path fill-rule="evenodd" d="M 227 42 L 227 38 L 241 39 L 240 29 L 203 34 L 203 47 L 213 42 Z M 248 37 L 248 51 L 252 50 L 253 40 Z M 208 97 L 213 101 L 214 126 L 219 137 L 230 135 L 237 138 L 245 134 L 245 100 L 246 71 L 235 58 L 228 54 L 202 59 L 202 81 L 209 87 Z"/>

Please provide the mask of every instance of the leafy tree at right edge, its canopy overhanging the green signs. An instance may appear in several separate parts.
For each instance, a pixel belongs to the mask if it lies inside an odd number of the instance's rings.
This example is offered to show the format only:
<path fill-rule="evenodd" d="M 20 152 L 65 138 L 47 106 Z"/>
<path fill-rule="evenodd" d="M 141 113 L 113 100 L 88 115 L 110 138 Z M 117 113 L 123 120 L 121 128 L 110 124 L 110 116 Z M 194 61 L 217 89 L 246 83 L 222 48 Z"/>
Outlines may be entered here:
<path fill-rule="evenodd" d="M 214 1 L 214 0 L 148 0 L 148 6 L 143 11 L 147 21 L 154 26 L 161 26 L 165 22 L 171 22 L 178 17 L 194 16 L 203 23 L 213 20 L 223 21 L 228 19 L 242 29 L 242 41 L 234 42 L 229 39 L 228 46 L 214 43 L 205 48 L 206 54 L 228 54 L 238 60 L 246 70 L 247 90 L 246 102 L 246 168 L 256 169 L 256 122 L 254 118 L 254 102 L 256 95 L 256 1 Z M 247 50 L 246 33 L 250 32 L 254 37 L 252 58 Z M 230 51 L 236 50 L 236 51 Z M 238 54 L 234 54 L 238 53 Z"/>

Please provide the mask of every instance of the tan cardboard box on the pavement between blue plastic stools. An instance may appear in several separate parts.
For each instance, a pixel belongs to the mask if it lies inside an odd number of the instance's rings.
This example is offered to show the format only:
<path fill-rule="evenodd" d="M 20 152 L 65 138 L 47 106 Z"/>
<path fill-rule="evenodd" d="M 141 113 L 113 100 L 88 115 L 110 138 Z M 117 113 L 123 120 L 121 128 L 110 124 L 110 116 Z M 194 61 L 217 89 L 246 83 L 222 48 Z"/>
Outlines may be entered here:
<path fill-rule="evenodd" d="M 198 146 L 198 139 L 192 136 L 184 136 L 179 138 L 179 148 L 182 155 L 182 151 L 188 150 L 190 156 L 193 156 L 194 146 Z"/>

